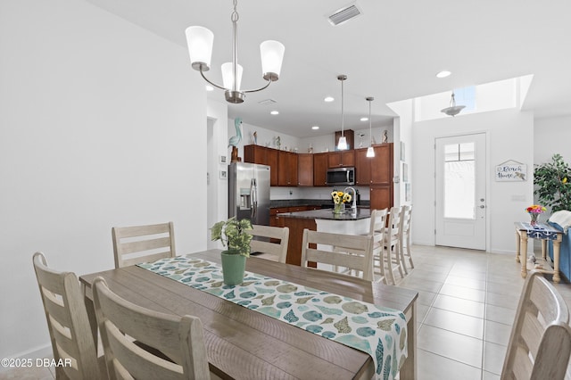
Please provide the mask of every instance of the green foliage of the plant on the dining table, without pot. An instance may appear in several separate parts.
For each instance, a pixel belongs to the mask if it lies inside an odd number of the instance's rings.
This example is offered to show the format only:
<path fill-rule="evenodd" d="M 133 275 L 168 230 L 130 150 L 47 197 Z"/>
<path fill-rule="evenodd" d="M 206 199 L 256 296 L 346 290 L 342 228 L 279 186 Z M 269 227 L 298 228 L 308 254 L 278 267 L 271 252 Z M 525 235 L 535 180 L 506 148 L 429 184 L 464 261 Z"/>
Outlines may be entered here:
<path fill-rule="evenodd" d="M 236 217 L 232 217 L 228 220 L 221 220 L 211 227 L 211 240 L 221 241 L 222 246 L 228 247 L 229 254 L 250 257 L 252 235 L 246 232 L 248 230 L 252 230 L 250 220 L 237 220 Z"/>

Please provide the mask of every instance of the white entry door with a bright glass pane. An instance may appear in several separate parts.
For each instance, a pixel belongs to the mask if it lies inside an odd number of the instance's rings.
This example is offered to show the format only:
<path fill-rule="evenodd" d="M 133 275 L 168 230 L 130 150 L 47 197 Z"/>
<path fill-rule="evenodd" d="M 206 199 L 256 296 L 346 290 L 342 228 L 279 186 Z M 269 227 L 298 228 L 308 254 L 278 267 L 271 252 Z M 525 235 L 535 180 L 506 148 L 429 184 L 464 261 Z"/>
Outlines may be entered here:
<path fill-rule="evenodd" d="M 435 244 L 485 250 L 485 134 L 435 139 Z"/>

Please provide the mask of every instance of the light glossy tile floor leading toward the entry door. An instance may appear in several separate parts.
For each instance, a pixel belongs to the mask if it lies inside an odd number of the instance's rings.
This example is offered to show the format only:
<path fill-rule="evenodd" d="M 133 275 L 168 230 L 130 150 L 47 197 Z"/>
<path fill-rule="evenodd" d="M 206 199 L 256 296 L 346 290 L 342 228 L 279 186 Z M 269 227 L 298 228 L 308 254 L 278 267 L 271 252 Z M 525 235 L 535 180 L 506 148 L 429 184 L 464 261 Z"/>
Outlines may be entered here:
<path fill-rule="evenodd" d="M 499 379 L 524 284 L 514 255 L 415 245 L 412 256 L 415 268 L 396 278 L 418 292 L 418 380 Z M 571 285 L 556 287 L 571 305 Z M 0 379 L 54 373 L 20 369 Z"/>

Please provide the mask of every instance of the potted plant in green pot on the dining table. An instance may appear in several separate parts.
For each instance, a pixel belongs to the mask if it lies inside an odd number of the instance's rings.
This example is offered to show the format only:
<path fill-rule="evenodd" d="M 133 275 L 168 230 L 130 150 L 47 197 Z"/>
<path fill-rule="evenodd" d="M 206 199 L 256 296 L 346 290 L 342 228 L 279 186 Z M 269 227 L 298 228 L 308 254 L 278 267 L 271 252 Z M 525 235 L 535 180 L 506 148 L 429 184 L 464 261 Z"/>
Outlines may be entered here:
<path fill-rule="evenodd" d="M 251 229 L 250 220 L 237 220 L 236 217 L 221 220 L 211 227 L 212 241 L 219 240 L 227 248 L 222 251 L 222 275 L 226 285 L 242 284 L 244 280 L 246 258 L 250 257 L 252 241 L 252 235 L 246 231 Z"/>

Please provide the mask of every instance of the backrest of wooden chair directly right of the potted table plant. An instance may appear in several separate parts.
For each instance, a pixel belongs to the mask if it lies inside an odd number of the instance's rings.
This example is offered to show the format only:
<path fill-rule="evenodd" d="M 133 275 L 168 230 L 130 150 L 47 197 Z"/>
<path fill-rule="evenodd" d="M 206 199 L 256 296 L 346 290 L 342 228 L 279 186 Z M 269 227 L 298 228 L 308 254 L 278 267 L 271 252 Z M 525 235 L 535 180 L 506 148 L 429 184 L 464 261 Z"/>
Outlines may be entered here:
<path fill-rule="evenodd" d="M 254 236 L 250 242 L 252 252 L 266 253 L 275 256 L 278 262 L 285 263 L 289 242 L 288 227 L 252 225 L 252 230 L 247 232 Z M 274 243 L 276 240 L 279 240 L 279 243 Z"/>

